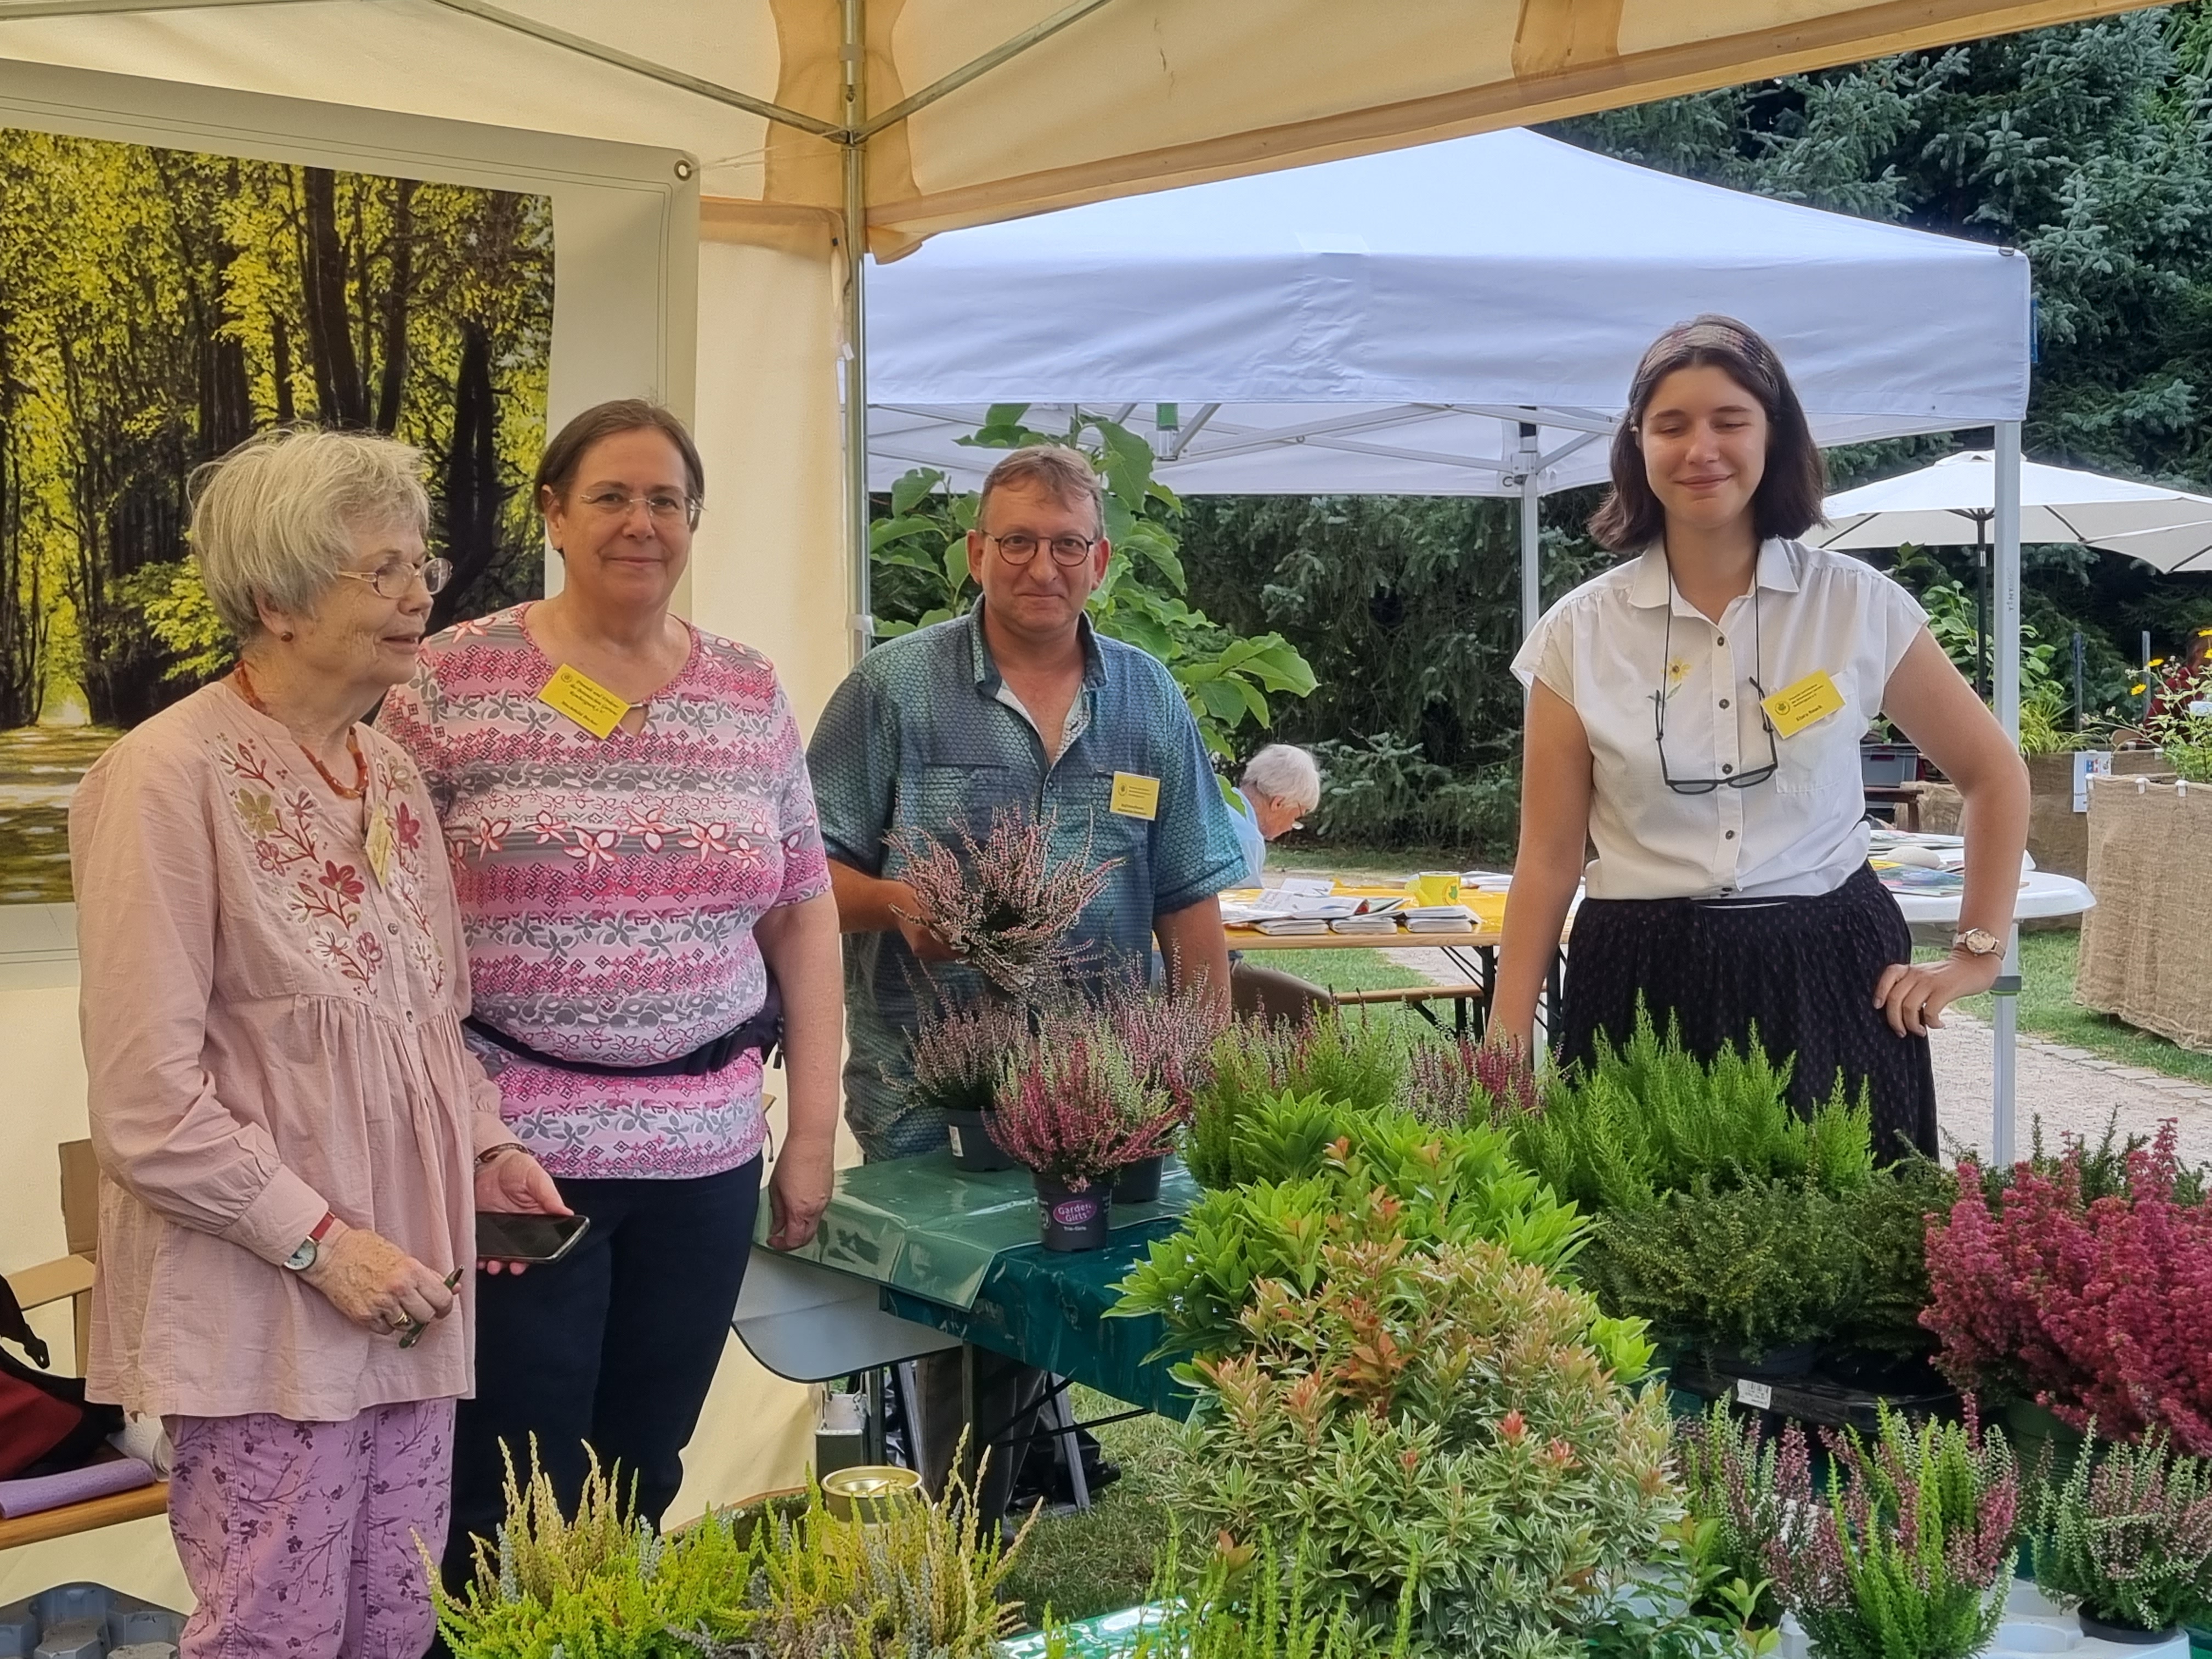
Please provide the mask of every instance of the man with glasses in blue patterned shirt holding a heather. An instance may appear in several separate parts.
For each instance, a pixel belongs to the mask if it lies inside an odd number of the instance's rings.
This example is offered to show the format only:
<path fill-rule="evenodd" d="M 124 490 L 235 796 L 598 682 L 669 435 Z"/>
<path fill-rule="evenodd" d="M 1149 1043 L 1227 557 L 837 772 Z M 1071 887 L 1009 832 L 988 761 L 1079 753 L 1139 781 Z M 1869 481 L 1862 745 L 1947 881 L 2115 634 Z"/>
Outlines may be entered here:
<path fill-rule="evenodd" d="M 845 1115 L 872 1159 L 945 1144 L 942 1119 L 905 1097 L 916 991 L 978 991 L 942 940 L 896 914 L 916 905 L 891 830 L 982 836 L 995 807 L 1051 814 L 1057 856 L 1088 845 L 1093 863 L 1121 860 L 1077 927 L 1091 973 L 1146 980 L 1157 936 L 1170 984 L 1203 980 L 1228 998 L 1214 894 L 1243 880 L 1243 849 L 1175 677 L 1084 617 L 1106 575 L 1102 531 L 1099 480 L 1079 451 L 1000 460 L 967 546 L 982 599 L 867 653 L 807 745 L 845 929 Z M 1137 787 L 1117 799 L 1117 776 Z"/>

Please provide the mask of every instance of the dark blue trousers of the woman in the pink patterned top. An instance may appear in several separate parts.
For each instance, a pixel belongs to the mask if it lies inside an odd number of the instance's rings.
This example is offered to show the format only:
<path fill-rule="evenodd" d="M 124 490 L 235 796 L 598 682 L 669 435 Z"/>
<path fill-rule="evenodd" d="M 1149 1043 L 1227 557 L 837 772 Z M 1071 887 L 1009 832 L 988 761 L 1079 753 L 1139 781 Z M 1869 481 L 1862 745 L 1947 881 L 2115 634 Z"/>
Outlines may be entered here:
<path fill-rule="evenodd" d="M 752 1254 L 761 1159 L 695 1181 L 560 1181 L 591 1217 L 564 1261 L 476 1281 L 476 1398 L 453 1422 L 453 1526 L 445 1582 L 471 1577 L 471 1535 L 507 1515 L 500 1442 L 529 1480 L 531 1436 L 564 1513 L 584 1489 L 584 1444 L 637 1480 L 659 1526 L 684 1484 L 684 1447 L 714 1383 Z"/>

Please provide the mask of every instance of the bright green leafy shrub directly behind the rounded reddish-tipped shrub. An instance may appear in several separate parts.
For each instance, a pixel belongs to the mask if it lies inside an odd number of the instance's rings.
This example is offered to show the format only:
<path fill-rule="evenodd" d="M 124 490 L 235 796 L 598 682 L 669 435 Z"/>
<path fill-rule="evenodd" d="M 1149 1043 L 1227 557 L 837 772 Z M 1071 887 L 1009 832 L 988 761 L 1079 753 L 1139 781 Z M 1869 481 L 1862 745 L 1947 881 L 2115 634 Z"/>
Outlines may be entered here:
<path fill-rule="evenodd" d="M 1559 1267 L 1584 1223 L 1486 1124 L 1433 1130 L 1407 1113 L 1265 1097 L 1245 1119 L 1232 1168 L 1248 1183 L 1208 1192 L 1179 1232 L 1152 1243 L 1121 1281 L 1119 1316 L 1159 1314 L 1161 1354 L 1225 1354 L 1263 1281 L 1301 1294 L 1323 1283 L 1332 1245 L 1418 1252 L 1489 1239 L 1515 1259 Z M 1606 1323 L 1615 1365 L 1641 1374 L 1641 1327 Z"/>

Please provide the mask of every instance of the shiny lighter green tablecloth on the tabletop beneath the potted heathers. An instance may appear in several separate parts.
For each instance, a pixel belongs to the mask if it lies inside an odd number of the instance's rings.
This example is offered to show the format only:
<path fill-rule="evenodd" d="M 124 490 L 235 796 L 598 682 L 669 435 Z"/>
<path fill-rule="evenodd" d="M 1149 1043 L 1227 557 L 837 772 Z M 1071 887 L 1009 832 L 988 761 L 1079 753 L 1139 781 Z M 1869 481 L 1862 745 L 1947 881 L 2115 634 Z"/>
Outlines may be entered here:
<path fill-rule="evenodd" d="M 1181 1161 L 1168 1164 L 1157 1203 L 1113 1206 L 1115 1234 L 1199 1201 Z M 768 1206 L 754 1228 L 765 1241 Z M 814 1241 L 790 1254 L 951 1307 L 971 1307 L 991 1263 L 1037 1245 L 1037 1188 L 1029 1170 L 969 1175 L 951 1152 L 885 1159 L 838 1170 Z M 1119 1276 L 1119 1274 L 1117 1274 Z"/>

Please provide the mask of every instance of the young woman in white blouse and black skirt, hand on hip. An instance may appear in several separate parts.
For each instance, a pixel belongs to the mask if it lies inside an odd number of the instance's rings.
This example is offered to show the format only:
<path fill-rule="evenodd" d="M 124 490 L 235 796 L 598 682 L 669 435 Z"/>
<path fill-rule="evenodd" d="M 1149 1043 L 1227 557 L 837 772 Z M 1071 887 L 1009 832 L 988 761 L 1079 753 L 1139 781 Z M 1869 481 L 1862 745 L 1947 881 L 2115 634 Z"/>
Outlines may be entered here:
<path fill-rule="evenodd" d="M 1590 531 L 1637 557 L 1555 604 L 1528 684 L 1520 860 L 1493 1031 L 1531 1040 L 1586 883 L 1553 1033 L 1564 1064 L 1628 1037 L 1637 1002 L 1712 1055 L 1756 1029 L 1803 1110 L 1865 1086 L 1885 1157 L 1936 1150 L 1927 1033 L 2000 969 L 2028 781 L 1913 597 L 1796 538 L 1820 451 L 1774 349 L 1699 316 L 1644 354 Z M 1966 799 L 1951 956 L 1913 964 L 1867 867 L 1858 739 L 1887 714 Z M 1595 858 L 1584 869 L 1586 847 Z"/>

